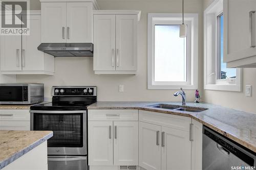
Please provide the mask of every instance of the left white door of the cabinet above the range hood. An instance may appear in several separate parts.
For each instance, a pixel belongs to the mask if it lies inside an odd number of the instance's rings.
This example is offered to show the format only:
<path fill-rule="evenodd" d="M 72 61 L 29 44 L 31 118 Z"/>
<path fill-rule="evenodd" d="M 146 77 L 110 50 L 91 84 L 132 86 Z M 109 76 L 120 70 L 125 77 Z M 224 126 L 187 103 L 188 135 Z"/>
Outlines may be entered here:
<path fill-rule="evenodd" d="M 42 42 L 66 42 L 67 3 L 41 3 Z"/>

